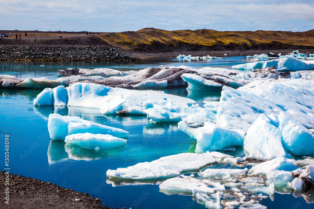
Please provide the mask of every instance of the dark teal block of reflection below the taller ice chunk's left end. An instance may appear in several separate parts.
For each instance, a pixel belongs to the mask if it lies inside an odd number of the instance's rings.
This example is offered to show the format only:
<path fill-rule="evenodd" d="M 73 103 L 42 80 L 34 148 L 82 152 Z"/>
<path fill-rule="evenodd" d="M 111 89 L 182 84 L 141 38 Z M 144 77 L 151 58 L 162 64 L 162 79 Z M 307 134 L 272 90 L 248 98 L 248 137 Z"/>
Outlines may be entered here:
<path fill-rule="evenodd" d="M 69 159 L 68 153 L 64 149 L 66 143 L 62 140 L 52 139 L 48 147 L 48 163 L 53 164 Z"/>

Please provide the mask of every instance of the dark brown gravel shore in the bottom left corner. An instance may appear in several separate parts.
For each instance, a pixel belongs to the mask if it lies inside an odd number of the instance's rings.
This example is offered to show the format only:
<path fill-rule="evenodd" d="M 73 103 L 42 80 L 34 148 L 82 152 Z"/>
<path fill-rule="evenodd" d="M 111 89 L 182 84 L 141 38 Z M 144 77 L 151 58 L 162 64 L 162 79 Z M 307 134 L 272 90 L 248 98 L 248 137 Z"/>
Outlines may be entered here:
<path fill-rule="evenodd" d="M 5 171 L 0 172 L 0 184 L 5 183 Z M 50 182 L 37 180 L 23 175 L 9 174 L 9 204 L 0 202 L 0 208 L 95 208 L 111 209 L 101 206 L 102 201 L 88 193 L 60 187 Z M 2 190 L 4 196 L 4 189 Z M 76 199 L 76 200 L 75 200 Z M 118 208 L 113 208 L 118 209 Z"/>

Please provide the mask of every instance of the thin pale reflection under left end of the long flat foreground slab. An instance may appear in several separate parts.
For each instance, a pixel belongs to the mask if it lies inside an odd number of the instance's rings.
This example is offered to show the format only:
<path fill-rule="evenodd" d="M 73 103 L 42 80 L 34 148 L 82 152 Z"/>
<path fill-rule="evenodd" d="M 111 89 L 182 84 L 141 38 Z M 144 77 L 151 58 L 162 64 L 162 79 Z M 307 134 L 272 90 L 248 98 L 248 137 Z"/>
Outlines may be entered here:
<path fill-rule="evenodd" d="M 165 179 L 166 180 L 166 179 Z M 111 177 L 107 179 L 107 184 L 112 184 L 113 187 L 116 186 L 127 186 L 127 185 L 160 185 L 163 180 L 132 180 L 132 179 L 121 179 L 116 177 Z"/>

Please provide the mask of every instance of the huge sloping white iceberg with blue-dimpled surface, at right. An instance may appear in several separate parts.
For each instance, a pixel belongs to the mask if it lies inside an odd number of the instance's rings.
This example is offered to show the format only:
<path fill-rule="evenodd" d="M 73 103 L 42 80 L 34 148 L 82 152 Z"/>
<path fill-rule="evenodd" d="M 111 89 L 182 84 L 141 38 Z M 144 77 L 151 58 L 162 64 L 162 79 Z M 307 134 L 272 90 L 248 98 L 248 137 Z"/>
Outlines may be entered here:
<path fill-rule="evenodd" d="M 306 128 L 314 128 L 314 82 L 309 80 L 253 81 L 239 89 L 223 87 L 216 107 L 216 122 L 225 128 L 247 131 L 260 114 L 285 112 Z"/>

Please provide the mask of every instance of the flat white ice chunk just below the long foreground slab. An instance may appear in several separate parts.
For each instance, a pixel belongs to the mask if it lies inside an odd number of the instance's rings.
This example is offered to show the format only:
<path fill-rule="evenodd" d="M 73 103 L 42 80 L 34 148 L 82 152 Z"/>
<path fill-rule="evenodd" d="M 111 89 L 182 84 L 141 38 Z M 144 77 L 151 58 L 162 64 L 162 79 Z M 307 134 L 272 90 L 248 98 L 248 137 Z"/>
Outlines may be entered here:
<path fill-rule="evenodd" d="M 161 190 L 168 190 L 172 194 L 181 192 L 199 192 L 203 194 L 213 194 L 214 190 L 209 188 L 208 185 L 195 178 L 184 175 L 179 175 L 176 178 L 165 180 L 159 185 Z"/>

